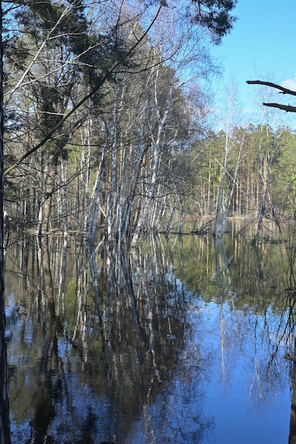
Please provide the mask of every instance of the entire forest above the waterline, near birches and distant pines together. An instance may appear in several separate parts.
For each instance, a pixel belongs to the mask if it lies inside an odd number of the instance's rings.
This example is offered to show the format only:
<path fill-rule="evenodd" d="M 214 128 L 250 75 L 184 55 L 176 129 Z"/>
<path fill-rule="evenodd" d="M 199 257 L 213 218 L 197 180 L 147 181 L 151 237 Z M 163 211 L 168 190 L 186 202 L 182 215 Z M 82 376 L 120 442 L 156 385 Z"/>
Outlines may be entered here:
<path fill-rule="evenodd" d="M 213 123 L 208 84 L 235 2 L 4 3 L 6 221 L 136 245 L 295 208 L 295 134 Z M 221 5 L 219 6 L 221 8 Z M 222 18 L 223 20 L 222 20 Z M 212 20 L 212 22 L 210 21 Z M 203 222 L 202 222 L 203 221 Z"/>

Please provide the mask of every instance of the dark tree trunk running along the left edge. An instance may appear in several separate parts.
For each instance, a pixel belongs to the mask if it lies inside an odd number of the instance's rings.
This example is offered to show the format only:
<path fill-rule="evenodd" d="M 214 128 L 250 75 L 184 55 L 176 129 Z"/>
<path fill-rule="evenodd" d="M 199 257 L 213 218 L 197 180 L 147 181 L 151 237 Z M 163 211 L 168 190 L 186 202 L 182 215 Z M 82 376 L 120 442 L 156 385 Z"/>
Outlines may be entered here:
<path fill-rule="evenodd" d="M 2 52 L 2 8 L 0 1 L 0 442 L 11 443 L 9 422 L 9 396 L 7 388 L 7 360 L 5 342 L 4 306 L 4 165 L 3 165 L 3 52 Z"/>

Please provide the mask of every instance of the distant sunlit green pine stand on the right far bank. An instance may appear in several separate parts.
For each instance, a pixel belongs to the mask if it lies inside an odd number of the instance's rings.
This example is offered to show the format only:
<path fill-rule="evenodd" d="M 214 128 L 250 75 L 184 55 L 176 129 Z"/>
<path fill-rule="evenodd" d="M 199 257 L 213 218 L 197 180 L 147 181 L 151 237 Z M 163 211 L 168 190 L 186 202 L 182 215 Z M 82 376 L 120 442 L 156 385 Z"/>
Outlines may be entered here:
<path fill-rule="evenodd" d="M 295 209 L 295 137 L 266 123 L 208 131 L 190 153 L 188 213 L 219 211 L 216 232 L 223 233 L 228 216 L 287 221 Z"/>

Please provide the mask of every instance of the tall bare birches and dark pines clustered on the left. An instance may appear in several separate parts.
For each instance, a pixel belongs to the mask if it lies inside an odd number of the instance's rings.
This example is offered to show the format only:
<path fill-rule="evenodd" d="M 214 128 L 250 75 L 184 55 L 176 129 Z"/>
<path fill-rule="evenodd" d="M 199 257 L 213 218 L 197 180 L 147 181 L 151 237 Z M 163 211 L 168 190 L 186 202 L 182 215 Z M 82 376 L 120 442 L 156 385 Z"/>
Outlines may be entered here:
<path fill-rule="evenodd" d="M 133 244 L 186 213 L 198 79 L 235 1 L 21 1 L 4 11 L 6 212 Z M 206 31 L 206 32 L 205 32 Z"/>

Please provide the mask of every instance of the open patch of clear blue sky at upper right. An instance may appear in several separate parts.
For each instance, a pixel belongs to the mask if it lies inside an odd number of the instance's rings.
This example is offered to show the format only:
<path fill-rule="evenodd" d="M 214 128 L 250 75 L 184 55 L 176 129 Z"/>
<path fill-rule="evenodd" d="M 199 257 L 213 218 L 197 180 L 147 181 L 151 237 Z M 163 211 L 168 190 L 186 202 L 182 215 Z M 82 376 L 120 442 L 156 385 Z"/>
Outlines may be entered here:
<path fill-rule="evenodd" d="M 234 13 L 234 29 L 213 50 L 223 70 L 215 89 L 219 92 L 232 78 L 243 106 L 256 112 L 257 87 L 246 80 L 268 80 L 296 91 L 296 1 L 239 0 Z M 296 105 L 296 97 L 273 99 Z"/>

